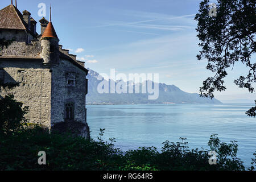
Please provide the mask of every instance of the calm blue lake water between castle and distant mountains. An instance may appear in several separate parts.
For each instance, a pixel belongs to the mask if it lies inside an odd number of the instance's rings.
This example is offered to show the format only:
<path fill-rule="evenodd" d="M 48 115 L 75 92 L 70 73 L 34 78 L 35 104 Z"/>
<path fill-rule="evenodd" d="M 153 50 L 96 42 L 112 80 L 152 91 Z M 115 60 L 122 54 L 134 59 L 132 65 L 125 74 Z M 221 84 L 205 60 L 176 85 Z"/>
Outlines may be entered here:
<path fill-rule="evenodd" d="M 161 149 L 166 140 L 186 137 L 190 148 L 204 147 L 210 135 L 222 142 L 238 141 L 238 157 L 250 166 L 256 150 L 256 119 L 245 111 L 252 105 L 88 105 L 87 121 L 91 137 L 116 138 L 115 147 L 126 151 L 139 146 Z"/>

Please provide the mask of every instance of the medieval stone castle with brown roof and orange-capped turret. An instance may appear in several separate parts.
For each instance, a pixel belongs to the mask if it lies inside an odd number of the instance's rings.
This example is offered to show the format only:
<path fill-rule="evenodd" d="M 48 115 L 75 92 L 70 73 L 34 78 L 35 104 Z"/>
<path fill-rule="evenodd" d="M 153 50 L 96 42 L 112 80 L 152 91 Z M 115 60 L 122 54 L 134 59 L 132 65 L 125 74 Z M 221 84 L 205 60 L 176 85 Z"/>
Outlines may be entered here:
<path fill-rule="evenodd" d="M 76 55 L 59 45 L 51 16 L 42 18 L 40 35 L 31 14 L 14 5 L 0 10 L 0 39 L 14 40 L 0 50 L 0 82 L 19 82 L 13 90 L 1 90 L 0 99 L 14 94 L 29 106 L 26 118 L 51 129 L 55 123 L 80 121 L 86 124 L 85 97 L 88 70 Z M 89 129 L 82 134 L 89 138 Z"/>

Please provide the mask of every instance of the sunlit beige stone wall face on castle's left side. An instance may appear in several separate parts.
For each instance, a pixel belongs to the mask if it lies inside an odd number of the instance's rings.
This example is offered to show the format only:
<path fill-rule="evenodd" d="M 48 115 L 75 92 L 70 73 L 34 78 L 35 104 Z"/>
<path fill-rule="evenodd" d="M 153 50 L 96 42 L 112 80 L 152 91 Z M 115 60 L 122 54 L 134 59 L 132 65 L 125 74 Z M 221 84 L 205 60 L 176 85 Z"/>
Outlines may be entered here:
<path fill-rule="evenodd" d="M 28 122 L 38 123 L 51 129 L 51 72 L 44 68 L 42 60 L 1 59 L 5 82 L 20 82 L 13 90 L 1 90 L 1 96 L 14 94 L 15 100 L 29 106 L 25 117 Z"/>

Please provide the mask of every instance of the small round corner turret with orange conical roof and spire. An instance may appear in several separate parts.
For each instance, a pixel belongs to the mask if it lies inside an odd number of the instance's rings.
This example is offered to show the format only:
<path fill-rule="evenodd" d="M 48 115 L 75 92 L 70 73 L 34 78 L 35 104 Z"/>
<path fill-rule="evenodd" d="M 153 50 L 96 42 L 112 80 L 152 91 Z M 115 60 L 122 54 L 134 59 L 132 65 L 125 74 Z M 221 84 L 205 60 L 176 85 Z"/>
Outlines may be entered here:
<path fill-rule="evenodd" d="M 52 25 L 52 13 L 50 7 L 50 20 L 41 38 L 44 64 L 59 64 L 59 38 Z"/>

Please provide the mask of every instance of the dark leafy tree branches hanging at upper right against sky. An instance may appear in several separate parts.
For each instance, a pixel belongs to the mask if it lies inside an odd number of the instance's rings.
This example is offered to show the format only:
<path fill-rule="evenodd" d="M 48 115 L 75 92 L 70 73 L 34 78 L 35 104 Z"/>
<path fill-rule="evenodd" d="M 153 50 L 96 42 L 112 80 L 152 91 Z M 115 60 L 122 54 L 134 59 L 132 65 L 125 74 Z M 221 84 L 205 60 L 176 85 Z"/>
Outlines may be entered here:
<path fill-rule="evenodd" d="M 202 97 L 214 97 L 214 91 L 224 91 L 224 78 L 228 75 L 226 69 L 241 62 L 248 68 L 246 76 L 240 76 L 234 81 L 240 88 L 246 88 L 250 93 L 255 90 L 256 63 L 251 57 L 255 54 L 255 0 L 217 0 L 217 16 L 209 16 L 209 0 L 200 3 L 199 13 L 196 14 L 202 48 L 198 60 L 208 60 L 207 69 L 214 73 L 208 77 L 200 88 Z M 255 59 L 255 57 L 254 57 Z M 256 101 L 255 101 L 256 102 Z M 255 117 L 256 107 L 246 112 Z"/>

